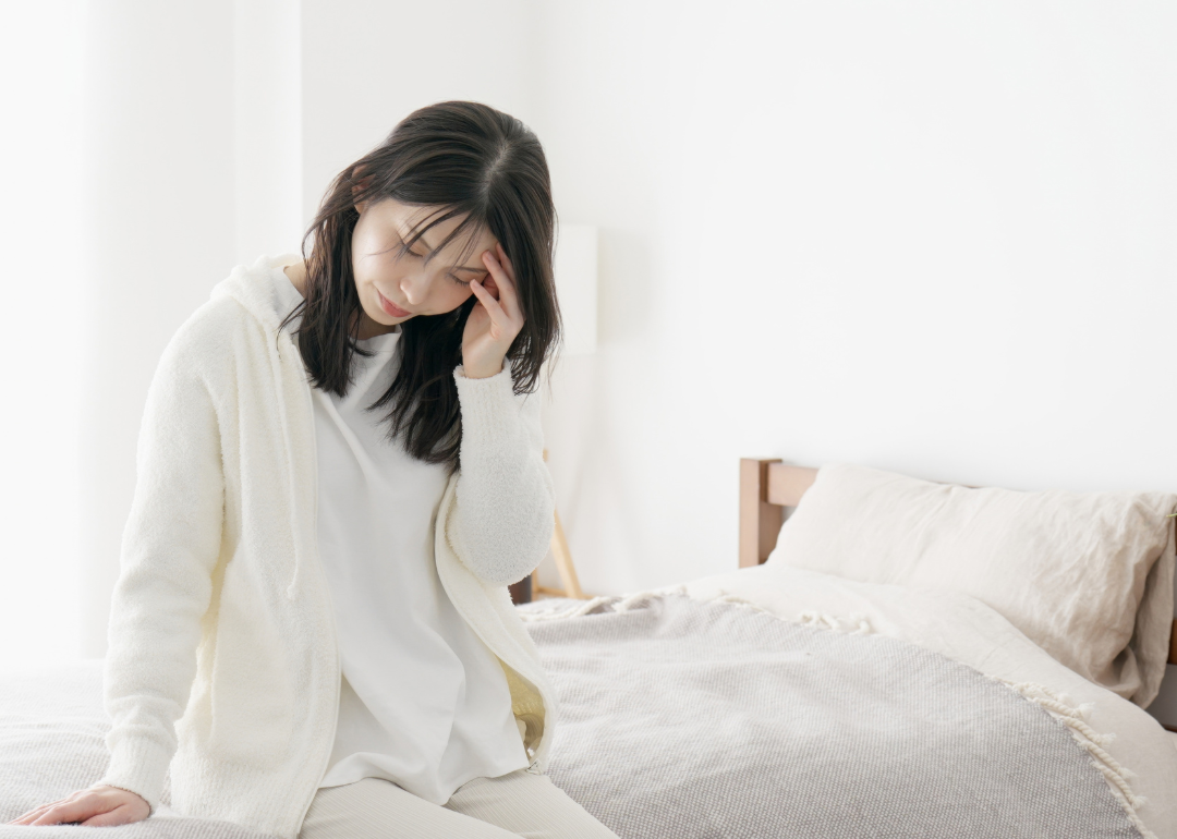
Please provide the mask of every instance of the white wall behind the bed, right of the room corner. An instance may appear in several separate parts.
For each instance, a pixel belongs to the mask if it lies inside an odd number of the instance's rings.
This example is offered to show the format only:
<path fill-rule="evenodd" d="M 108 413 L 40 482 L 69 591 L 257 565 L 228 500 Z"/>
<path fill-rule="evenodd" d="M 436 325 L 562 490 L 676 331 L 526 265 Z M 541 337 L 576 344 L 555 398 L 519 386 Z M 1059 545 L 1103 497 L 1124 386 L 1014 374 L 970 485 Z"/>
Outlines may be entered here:
<path fill-rule="evenodd" d="M 546 414 L 586 591 L 733 570 L 740 457 L 1177 490 L 1173 6 L 541 8 L 601 227 Z"/>

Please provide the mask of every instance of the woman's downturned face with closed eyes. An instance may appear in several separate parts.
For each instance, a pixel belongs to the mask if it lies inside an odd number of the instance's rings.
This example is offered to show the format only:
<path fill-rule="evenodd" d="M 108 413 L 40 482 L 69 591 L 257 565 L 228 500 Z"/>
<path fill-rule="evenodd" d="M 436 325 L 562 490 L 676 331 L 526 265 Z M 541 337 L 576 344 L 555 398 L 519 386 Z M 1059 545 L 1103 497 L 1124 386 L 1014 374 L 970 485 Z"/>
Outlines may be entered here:
<path fill-rule="evenodd" d="M 401 255 L 401 244 L 408 240 L 410 231 L 438 208 L 400 204 L 391 198 L 364 201 L 355 208 L 360 218 L 352 232 L 352 273 L 360 305 L 371 320 L 392 327 L 418 314 L 452 312 L 473 294 L 471 280 L 485 282 L 487 291 L 492 291 L 493 280 L 483 264 L 485 251 L 494 253 L 497 240 L 490 231 L 472 234 L 476 237 L 472 251 L 464 247 L 468 242 L 465 234 L 443 251 L 434 251 L 461 224 L 461 217 L 455 217 L 431 227 Z M 467 257 L 459 261 L 463 251 Z"/>

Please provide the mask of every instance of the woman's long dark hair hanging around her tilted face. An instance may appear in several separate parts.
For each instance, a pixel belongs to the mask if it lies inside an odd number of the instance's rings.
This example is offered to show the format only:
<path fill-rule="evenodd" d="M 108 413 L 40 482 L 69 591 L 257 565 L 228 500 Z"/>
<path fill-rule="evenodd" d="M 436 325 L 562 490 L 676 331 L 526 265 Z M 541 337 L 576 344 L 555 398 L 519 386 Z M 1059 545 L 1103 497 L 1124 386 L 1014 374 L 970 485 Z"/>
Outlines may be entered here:
<path fill-rule="evenodd" d="M 404 244 L 406 251 L 434 225 L 463 214 L 438 251 L 464 232 L 468 248 L 484 228 L 503 245 L 525 318 L 507 349 L 510 375 L 516 393 L 534 392 L 544 359 L 560 339 L 547 161 L 539 140 L 514 116 L 461 101 L 414 111 L 328 187 L 302 239 L 306 299 L 281 324 L 302 313 L 298 344 L 312 385 L 343 397 L 351 384 L 353 353 L 371 355 L 355 346 L 361 305 L 352 274 L 352 231 L 359 219 L 357 204 L 387 198 L 439 209 L 417 226 Z M 477 302 L 471 297 L 446 314 L 404 321 L 397 377 L 370 406 L 390 406 L 388 438 L 412 457 L 452 470 L 458 468 L 461 445 L 453 369 L 461 362 L 463 329 Z"/>

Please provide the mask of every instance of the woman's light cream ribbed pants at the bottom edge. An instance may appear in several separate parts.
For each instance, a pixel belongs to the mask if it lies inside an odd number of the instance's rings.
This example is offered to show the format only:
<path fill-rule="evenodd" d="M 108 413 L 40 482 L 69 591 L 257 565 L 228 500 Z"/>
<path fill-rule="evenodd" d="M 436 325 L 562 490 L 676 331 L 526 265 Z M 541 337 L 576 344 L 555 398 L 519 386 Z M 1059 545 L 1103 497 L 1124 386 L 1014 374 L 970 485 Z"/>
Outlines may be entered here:
<path fill-rule="evenodd" d="M 319 790 L 299 839 L 618 839 L 544 774 L 463 784 L 444 805 L 380 778 Z"/>

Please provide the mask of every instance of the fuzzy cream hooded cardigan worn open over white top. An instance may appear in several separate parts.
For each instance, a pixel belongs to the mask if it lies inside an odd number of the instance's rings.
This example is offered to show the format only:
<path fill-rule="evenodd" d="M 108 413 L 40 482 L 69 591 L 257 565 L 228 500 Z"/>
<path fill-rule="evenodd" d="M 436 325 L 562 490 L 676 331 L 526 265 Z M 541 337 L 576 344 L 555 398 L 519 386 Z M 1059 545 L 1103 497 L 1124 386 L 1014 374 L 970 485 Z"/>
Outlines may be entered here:
<path fill-rule="evenodd" d="M 317 554 L 311 385 L 273 284 L 297 255 L 238 266 L 168 342 L 147 394 L 122 534 L 99 784 L 297 839 L 326 770 L 340 665 Z M 438 508 L 434 561 L 458 612 L 500 660 L 532 766 L 547 767 L 557 703 L 506 585 L 543 559 L 553 491 L 539 399 L 510 365 L 454 371 L 461 470 Z M 174 757 L 173 757 L 174 755 Z"/>

